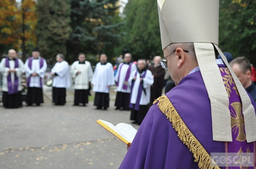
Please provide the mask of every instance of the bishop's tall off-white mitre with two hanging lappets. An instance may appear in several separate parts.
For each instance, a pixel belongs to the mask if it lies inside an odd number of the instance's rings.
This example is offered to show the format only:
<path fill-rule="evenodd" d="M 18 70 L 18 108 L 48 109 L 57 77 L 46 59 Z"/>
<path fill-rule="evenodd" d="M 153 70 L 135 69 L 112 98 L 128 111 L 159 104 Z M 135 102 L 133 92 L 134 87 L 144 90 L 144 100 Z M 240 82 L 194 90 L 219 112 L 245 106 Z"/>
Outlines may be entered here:
<path fill-rule="evenodd" d="M 194 42 L 196 57 L 211 101 L 213 140 L 232 141 L 229 98 L 215 61 L 214 47 L 226 63 L 242 100 L 247 142 L 256 141 L 256 115 L 251 99 L 218 48 L 218 0 L 157 0 L 162 49 Z"/>

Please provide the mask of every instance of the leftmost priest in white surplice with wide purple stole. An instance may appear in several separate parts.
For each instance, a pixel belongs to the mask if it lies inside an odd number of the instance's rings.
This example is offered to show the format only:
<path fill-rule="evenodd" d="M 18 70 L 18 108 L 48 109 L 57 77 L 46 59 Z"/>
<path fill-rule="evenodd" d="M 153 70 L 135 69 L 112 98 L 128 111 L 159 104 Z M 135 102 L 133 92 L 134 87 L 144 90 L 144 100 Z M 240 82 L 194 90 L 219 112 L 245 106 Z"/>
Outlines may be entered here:
<path fill-rule="evenodd" d="M 15 50 L 9 50 L 8 57 L 1 60 L 0 72 L 3 75 L 3 106 L 5 108 L 22 107 L 21 78 L 25 69 L 22 60 L 17 58 Z"/>

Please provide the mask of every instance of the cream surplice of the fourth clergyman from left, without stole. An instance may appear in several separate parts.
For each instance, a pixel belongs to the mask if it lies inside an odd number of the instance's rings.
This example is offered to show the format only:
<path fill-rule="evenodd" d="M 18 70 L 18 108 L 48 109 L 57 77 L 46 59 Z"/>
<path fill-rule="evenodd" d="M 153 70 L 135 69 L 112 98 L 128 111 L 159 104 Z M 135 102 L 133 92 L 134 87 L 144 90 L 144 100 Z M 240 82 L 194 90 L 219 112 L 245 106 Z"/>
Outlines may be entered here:
<path fill-rule="evenodd" d="M 77 74 L 78 71 L 81 73 Z M 74 78 L 74 89 L 89 89 L 89 82 L 93 78 L 90 62 L 85 61 L 85 64 L 79 64 L 79 61 L 75 61 L 70 67 L 70 73 Z"/>

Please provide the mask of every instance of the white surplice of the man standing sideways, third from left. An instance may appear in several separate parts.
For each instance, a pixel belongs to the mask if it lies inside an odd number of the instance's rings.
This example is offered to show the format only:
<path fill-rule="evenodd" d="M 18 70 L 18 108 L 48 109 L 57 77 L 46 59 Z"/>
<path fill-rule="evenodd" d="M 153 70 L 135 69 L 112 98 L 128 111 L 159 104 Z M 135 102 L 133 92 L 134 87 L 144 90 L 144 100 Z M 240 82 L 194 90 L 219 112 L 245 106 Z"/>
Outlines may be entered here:
<path fill-rule="evenodd" d="M 69 64 L 65 60 L 57 62 L 51 73 L 57 73 L 53 77 L 53 87 L 56 88 L 69 88 L 70 87 L 70 76 L 69 76 Z"/>

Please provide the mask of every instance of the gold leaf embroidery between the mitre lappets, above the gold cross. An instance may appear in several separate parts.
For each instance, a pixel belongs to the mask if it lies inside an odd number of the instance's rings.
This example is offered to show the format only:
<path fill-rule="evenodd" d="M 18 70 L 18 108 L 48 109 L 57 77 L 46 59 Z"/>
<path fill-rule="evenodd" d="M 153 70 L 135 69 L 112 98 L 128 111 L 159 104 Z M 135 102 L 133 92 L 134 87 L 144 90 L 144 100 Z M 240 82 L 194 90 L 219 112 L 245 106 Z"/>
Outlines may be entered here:
<path fill-rule="evenodd" d="M 223 78 L 223 83 L 224 83 L 224 85 L 225 85 L 225 87 L 226 87 L 226 90 L 227 90 L 228 97 L 230 97 L 230 93 L 232 93 L 230 86 L 231 86 L 232 84 L 234 84 L 233 77 L 232 77 L 232 75 L 230 74 L 228 68 L 219 68 L 219 69 L 220 69 L 223 73 L 224 73 L 224 72 L 226 73 L 226 75 L 225 75 L 224 77 L 222 77 L 222 78 Z M 234 90 L 236 91 L 237 95 L 239 95 L 238 90 L 237 90 L 237 88 L 236 88 L 235 86 L 234 86 L 232 89 L 234 89 Z"/>

